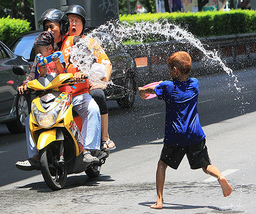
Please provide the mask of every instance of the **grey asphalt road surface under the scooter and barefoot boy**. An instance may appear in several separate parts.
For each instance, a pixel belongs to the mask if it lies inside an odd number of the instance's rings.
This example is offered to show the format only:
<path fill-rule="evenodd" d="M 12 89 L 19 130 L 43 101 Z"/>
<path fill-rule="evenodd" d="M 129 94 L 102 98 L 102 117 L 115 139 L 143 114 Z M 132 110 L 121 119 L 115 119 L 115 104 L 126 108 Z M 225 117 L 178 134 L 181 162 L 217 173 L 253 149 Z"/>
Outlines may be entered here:
<path fill-rule="evenodd" d="M 191 170 L 186 158 L 168 169 L 164 209 L 155 202 L 155 171 L 164 137 L 165 105 L 136 96 L 134 107 L 120 109 L 109 101 L 109 134 L 117 149 L 101 176 L 70 175 L 65 189 L 53 192 L 39 171 L 16 169 L 27 158 L 25 134 L 12 135 L 0 125 L 0 213 L 173 213 L 255 214 L 256 68 L 237 71 L 237 92 L 227 74 L 199 78 L 198 111 L 213 165 L 233 187 L 222 196 L 218 181 Z"/>

